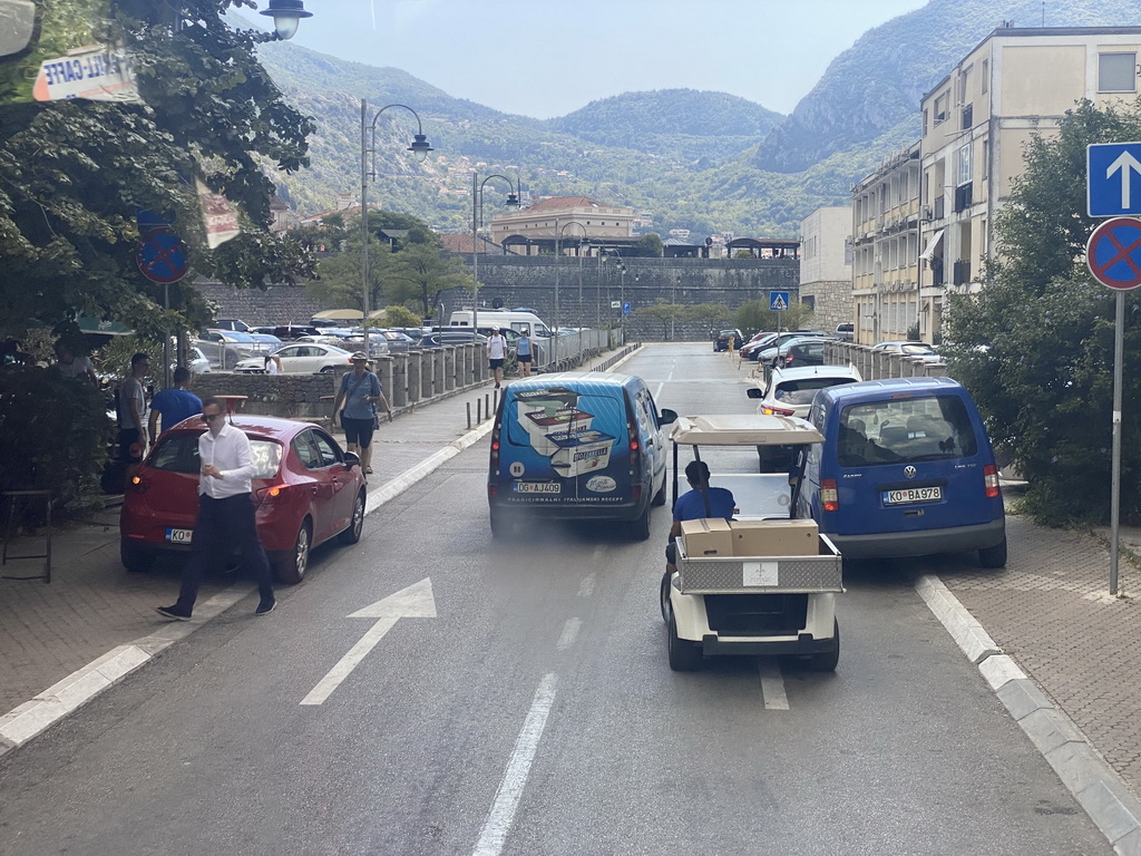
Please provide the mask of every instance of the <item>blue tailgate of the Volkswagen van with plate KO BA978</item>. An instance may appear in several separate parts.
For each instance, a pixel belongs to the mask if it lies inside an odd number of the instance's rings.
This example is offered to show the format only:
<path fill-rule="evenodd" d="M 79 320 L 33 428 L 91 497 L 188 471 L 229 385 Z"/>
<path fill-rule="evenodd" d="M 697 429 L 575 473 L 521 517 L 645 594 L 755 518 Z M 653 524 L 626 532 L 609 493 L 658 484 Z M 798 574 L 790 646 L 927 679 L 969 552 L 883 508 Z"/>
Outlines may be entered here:
<path fill-rule="evenodd" d="M 958 394 L 897 395 L 842 406 L 822 483 L 835 482 L 837 535 L 986 524 L 1002 499 L 987 496 L 990 443 L 974 405 Z"/>

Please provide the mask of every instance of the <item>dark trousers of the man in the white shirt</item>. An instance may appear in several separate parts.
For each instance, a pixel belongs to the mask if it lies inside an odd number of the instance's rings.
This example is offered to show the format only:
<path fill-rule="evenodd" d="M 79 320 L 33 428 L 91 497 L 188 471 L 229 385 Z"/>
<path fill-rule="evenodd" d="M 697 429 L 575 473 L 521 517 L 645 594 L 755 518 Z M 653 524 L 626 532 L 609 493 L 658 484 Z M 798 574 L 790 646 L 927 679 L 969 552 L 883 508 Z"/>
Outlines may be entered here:
<path fill-rule="evenodd" d="M 183 587 L 176 607 L 189 612 L 202 588 L 207 568 L 222 560 L 235 548 L 242 549 L 245 566 L 258 581 L 262 600 L 274 596 L 269 558 L 258 540 L 258 524 L 253 516 L 253 498 L 249 493 L 216 500 L 199 496 L 199 519 L 191 539 L 191 558 L 183 568 Z"/>

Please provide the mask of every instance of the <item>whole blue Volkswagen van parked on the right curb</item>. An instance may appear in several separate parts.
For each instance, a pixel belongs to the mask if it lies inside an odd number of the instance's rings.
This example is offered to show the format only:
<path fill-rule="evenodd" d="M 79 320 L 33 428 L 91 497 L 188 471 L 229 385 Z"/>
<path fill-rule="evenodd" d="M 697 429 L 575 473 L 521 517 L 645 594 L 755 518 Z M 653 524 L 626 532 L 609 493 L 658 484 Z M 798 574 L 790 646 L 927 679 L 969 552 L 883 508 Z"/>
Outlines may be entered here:
<path fill-rule="evenodd" d="M 974 402 L 950 378 L 892 378 L 817 393 L 799 516 L 845 558 L 978 550 L 1006 564 L 998 469 Z"/>

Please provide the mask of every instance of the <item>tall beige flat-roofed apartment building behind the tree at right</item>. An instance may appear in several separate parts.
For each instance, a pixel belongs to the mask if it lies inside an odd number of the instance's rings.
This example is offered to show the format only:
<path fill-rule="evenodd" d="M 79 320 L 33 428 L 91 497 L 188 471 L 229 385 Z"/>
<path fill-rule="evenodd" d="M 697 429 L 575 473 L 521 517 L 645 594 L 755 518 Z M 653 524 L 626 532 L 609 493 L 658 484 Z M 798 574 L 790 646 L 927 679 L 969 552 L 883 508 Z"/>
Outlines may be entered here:
<path fill-rule="evenodd" d="M 922 98 L 920 330 L 939 329 L 944 294 L 982 285 L 994 213 L 1022 172 L 1022 152 L 1075 102 L 1138 96 L 1141 27 L 1002 27 Z"/>

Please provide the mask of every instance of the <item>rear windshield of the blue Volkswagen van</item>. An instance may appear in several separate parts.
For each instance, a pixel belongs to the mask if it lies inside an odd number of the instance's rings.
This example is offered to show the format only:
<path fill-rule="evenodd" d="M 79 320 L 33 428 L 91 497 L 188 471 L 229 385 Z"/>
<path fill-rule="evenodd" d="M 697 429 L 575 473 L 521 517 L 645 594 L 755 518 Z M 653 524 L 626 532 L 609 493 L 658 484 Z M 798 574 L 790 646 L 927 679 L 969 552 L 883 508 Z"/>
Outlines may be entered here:
<path fill-rule="evenodd" d="M 841 467 L 971 458 L 979 444 L 954 395 L 852 404 L 840 414 Z"/>

